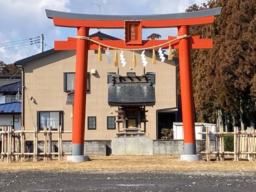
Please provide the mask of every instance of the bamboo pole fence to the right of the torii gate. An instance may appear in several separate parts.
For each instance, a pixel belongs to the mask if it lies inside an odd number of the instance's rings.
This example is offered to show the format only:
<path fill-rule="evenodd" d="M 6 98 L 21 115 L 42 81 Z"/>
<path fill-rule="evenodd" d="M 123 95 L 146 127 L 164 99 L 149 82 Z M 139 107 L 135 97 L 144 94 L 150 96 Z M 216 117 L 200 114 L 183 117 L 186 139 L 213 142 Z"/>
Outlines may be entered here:
<path fill-rule="evenodd" d="M 211 160 L 210 154 L 214 154 L 217 161 L 224 161 L 225 156 L 234 156 L 235 161 L 256 160 L 256 131 L 250 127 L 244 131 L 234 127 L 234 132 L 224 132 L 222 127 L 219 132 L 210 132 L 209 127 L 206 126 L 206 132 L 199 132 L 199 134 L 206 134 L 206 151 L 202 151 L 201 154 L 206 154 L 207 161 Z M 210 134 L 215 135 L 215 151 L 210 150 Z M 224 151 L 225 134 L 234 136 L 234 151 Z"/>

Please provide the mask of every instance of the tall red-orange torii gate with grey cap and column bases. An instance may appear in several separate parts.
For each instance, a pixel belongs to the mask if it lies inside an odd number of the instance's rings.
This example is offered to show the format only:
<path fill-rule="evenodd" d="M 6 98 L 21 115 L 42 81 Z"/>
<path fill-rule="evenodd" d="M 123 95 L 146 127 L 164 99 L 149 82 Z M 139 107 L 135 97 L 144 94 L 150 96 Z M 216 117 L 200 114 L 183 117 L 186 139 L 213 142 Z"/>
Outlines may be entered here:
<path fill-rule="evenodd" d="M 88 37 L 90 28 L 125 28 L 125 40 L 98 40 L 120 49 L 148 48 L 160 45 L 176 37 L 168 36 L 167 40 L 142 40 L 142 28 L 178 28 L 178 36 L 187 35 L 171 42 L 173 49 L 179 49 L 180 84 L 182 100 L 182 119 L 184 127 L 184 155 L 185 160 L 191 160 L 196 155 L 196 139 L 194 129 L 194 99 L 192 92 L 192 72 L 190 61 L 190 49 L 212 48 L 212 39 L 200 39 L 200 36 L 189 36 L 189 27 L 212 24 L 214 16 L 220 14 L 221 8 L 212 8 L 196 12 L 158 14 L 158 15 L 94 15 L 76 14 L 46 10 L 48 18 L 52 19 L 55 26 L 77 28 L 78 37 Z M 135 27 L 135 38 L 129 38 L 131 25 Z M 168 48 L 168 43 L 161 46 Z M 106 49 L 105 47 L 102 47 Z M 98 44 L 86 38 L 69 38 L 67 41 L 55 41 L 55 50 L 76 50 L 76 76 L 74 94 L 74 114 L 72 132 L 72 156 L 70 160 L 80 162 L 86 160 L 84 156 L 84 129 L 86 109 L 86 74 L 88 62 L 88 50 L 97 50 Z M 191 156 L 192 155 L 192 156 Z"/>

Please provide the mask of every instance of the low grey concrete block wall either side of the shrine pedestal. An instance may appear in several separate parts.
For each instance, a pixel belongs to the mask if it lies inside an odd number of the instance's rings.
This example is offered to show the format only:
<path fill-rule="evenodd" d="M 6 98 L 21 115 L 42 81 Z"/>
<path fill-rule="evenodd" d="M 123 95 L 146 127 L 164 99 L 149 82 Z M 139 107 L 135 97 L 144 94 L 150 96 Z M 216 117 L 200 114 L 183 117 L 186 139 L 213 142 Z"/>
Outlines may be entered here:
<path fill-rule="evenodd" d="M 33 146 L 33 145 L 32 145 Z M 206 141 L 197 140 L 197 152 L 206 150 Z M 62 142 L 63 152 L 71 152 L 72 142 Z M 211 151 L 215 151 L 215 142 L 210 141 Z M 31 148 L 33 151 L 33 148 Z M 38 152 L 43 152 L 43 142 L 38 143 Z M 52 152 L 58 152 L 58 143 L 52 142 Z M 111 141 L 86 141 L 84 152 L 88 156 L 106 156 L 112 154 Z M 154 155 L 180 155 L 184 152 L 183 140 L 153 140 Z"/>

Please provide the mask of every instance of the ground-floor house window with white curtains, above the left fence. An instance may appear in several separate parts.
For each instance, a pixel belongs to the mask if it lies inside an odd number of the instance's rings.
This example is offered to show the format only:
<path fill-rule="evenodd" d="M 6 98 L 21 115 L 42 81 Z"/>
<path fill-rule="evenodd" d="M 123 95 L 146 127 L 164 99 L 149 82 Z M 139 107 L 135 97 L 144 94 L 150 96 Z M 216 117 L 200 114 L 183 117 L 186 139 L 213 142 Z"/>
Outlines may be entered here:
<path fill-rule="evenodd" d="M 45 126 L 52 130 L 57 130 L 58 126 L 63 127 L 62 111 L 38 111 L 38 129 L 42 130 Z"/>

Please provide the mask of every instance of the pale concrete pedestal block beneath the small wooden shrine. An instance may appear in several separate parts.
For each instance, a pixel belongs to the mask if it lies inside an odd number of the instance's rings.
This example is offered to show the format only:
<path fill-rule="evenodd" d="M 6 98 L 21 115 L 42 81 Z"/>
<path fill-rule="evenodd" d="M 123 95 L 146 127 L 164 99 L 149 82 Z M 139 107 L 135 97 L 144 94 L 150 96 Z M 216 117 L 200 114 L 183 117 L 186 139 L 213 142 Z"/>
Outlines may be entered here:
<path fill-rule="evenodd" d="M 153 155 L 153 140 L 148 137 L 117 137 L 111 140 L 112 155 Z"/>

